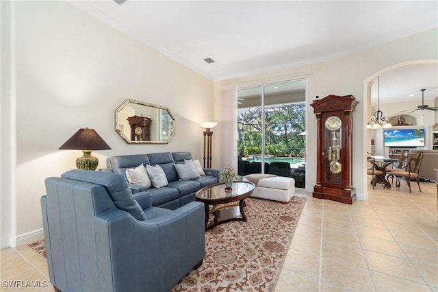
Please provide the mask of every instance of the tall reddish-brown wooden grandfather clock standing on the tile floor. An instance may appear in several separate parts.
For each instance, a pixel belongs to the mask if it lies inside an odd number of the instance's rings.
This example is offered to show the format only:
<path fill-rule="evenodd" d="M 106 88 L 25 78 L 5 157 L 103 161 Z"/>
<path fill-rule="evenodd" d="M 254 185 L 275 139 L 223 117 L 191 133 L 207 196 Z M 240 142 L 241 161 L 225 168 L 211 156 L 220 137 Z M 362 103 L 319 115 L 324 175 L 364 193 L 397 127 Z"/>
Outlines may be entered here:
<path fill-rule="evenodd" d="M 329 95 L 311 106 L 317 122 L 316 184 L 313 197 L 352 204 L 352 95 Z"/>

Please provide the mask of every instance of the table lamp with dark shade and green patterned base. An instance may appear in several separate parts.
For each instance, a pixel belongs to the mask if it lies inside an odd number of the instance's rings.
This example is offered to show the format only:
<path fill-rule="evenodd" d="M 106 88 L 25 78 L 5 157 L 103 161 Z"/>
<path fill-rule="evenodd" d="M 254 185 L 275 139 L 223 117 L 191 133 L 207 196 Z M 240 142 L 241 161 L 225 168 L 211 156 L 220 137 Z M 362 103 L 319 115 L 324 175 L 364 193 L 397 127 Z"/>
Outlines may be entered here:
<path fill-rule="evenodd" d="M 111 149 L 103 138 L 93 129 L 79 129 L 66 143 L 59 149 L 62 150 L 81 150 L 83 156 L 77 158 L 77 169 L 95 170 L 99 165 L 99 159 L 91 155 L 92 150 Z"/>

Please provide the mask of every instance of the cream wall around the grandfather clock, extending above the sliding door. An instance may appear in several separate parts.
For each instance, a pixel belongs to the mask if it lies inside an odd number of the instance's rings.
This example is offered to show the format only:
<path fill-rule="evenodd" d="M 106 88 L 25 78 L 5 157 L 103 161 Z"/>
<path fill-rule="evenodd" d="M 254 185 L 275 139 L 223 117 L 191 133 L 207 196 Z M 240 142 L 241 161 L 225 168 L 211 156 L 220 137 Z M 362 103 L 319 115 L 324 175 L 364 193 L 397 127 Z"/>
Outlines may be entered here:
<path fill-rule="evenodd" d="M 261 84 L 276 80 L 294 80 L 305 77 L 307 80 L 307 170 L 306 188 L 313 191 L 316 182 L 316 118 L 313 108 L 309 106 L 315 99 L 327 95 L 354 95 L 359 104 L 353 115 L 353 166 L 352 186 L 356 188 L 358 199 L 366 199 L 366 151 L 368 151 L 368 133 L 365 124 L 370 117 L 368 106 L 367 84 L 372 78 L 391 69 L 398 64 L 409 62 L 437 62 L 438 60 L 438 31 L 427 32 L 402 38 L 385 45 L 365 49 L 349 56 L 336 58 L 318 64 L 307 64 L 293 68 L 281 69 L 250 75 L 221 82 L 222 86 L 246 86 Z"/>

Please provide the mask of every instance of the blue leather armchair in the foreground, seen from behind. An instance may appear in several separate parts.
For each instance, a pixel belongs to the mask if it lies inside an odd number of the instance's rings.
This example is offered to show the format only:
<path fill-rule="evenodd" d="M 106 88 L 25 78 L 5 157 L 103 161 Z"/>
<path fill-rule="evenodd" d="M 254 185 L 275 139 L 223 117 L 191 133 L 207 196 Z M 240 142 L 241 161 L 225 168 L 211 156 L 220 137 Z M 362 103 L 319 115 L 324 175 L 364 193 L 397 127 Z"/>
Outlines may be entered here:
<path fill-rule="evenodd" d="M 204 206 L 176 210 L 132 195 L 122 175 L 47 178 L 42 221 L 49 278 L 60 291 L 168 291 L 205 255 Z"/>

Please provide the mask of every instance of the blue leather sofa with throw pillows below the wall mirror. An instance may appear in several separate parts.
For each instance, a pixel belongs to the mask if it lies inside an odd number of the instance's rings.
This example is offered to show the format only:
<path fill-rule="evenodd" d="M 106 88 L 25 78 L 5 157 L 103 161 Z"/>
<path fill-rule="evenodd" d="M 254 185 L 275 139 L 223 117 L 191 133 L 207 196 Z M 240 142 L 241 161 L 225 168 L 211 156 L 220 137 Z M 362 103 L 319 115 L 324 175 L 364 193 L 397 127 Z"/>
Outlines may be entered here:
<path fill-rule="evenodd" d="M 192 159 L 190 152 L 163 152 L 153 154 L 133 154 L 113 156 L 107 158 L 107 171 L 123 175 L 126 178 L 126 170 L 134 169 L 140 164 L 159 165 L 164 170 L 168 185 L 162 188 L 146 188 L 136 184 L 129 184 L 132 193 L 146 191 L 151 193 L 152 206 L 168 209 L 176 209 L 195 200 L 195 194 L 201 188 L 219 182 L 217 169 L 204 169 L 206 175 L 194 180 L 179 180 L 175 164 L 184 163 L 184 160 Z"/>

